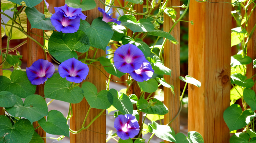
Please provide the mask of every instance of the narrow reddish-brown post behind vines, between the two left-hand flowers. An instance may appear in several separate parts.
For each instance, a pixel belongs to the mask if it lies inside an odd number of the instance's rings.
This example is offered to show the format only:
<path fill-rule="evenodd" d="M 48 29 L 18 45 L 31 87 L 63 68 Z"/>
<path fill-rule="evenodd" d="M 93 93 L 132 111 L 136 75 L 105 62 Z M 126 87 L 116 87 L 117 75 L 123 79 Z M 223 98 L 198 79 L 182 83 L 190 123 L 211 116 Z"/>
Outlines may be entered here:
<path fill-rule="evenodd" d="M 40 4 L 36 5 L 35 8 L 40 11 L 41 13 L 44 13 L 44 1 L 42 1 Z M 28 35 L 31 36 L 33 39 L 38 41 L 41 45 L 44 44 L 44 38 L 39 37 L 43 36 L 44 32 L 41 29 L 32 28 L 29 20 L 27 19 L 27 30 Z M 32 34 L 33 33 L 33 34 Z M 38 35 L 38 36 L 37 36 Z M 32 63 L 40 58 L 46 59 L 44 55 L 44 50 L 34 41 L 27 38 L 27 48 L 28 48 L 28 67 L 32 65 Z M 36 86 L 35 94 L 41 95 L 44 97 L 44 84 Z M 33 123 L 34 128 L 39 126 L 38 122 Z M 37 128 L 35 130 L 41 137 L 46 137 L 46 133 L 42 128 Z M 46 142 L 46 138 L 43 138 L 44 142 Z"/>

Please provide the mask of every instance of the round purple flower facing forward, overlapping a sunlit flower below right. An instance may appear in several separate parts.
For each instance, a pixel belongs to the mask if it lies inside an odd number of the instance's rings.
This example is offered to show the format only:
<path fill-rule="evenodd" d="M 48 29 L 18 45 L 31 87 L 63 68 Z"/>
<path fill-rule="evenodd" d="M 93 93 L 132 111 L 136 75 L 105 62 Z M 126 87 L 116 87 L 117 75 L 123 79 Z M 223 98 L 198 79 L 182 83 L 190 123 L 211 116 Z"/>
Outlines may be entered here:
<path fill-rule="evenodd" d="M 121 72 L 138 70 L 145 59 L 142 51 L 133 44 L 125 44 L 114 53 L 114 65 Z"/>

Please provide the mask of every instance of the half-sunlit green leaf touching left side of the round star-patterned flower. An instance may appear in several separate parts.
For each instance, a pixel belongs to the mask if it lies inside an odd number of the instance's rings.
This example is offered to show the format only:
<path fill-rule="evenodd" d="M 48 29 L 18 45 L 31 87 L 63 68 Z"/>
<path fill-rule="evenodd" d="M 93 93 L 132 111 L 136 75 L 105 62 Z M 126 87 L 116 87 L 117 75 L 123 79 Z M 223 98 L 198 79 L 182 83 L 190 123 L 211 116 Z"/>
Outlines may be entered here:
<path fill-rule="evenodd" d="M 112 60 L 106 57 L 100 57 L 99 62 L 104 67 L 105 71 L 107 71 L 109 74 L 115 75 L 118 78 L 125 75 L 125 73 L 118 71 L 115 65 L 113 64 Z"/>

